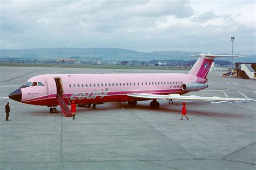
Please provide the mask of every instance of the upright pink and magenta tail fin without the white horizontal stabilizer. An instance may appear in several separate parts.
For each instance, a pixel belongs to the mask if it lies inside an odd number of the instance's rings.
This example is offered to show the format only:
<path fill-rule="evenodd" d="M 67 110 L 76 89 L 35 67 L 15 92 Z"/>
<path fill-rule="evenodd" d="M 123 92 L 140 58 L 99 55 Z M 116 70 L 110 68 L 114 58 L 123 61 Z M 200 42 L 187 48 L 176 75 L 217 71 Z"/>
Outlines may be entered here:
<path fill-rule="evenodd" d="M 190 70 L 190 73 L 188 74 L 196 75 L 197 77 L 206 79 L 206 76 L 211 68 L 212 62 L 213 59 L 205 59 L 204 57 L 200 57 Z"/>

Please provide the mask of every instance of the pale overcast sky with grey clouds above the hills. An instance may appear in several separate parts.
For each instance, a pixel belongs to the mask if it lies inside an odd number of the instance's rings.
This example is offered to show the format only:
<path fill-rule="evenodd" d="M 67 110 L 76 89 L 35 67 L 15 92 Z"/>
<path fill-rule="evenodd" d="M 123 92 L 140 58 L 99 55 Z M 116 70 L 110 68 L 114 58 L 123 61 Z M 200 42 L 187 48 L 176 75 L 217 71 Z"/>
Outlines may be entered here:
<path fill-rule="evenodd" d="M 1 1 L 1 49 L 255 54 L 255 1 Z"/>

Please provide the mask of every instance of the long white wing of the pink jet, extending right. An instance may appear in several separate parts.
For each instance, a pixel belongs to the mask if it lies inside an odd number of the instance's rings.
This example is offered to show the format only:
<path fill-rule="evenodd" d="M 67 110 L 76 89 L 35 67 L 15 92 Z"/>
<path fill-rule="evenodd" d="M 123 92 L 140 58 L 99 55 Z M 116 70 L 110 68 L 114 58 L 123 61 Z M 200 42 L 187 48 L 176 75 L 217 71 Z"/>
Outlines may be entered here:
<path fill-rule="evenodd" d="M 181 96 L 179 94 L 154 95 L 154 94 L 129 94 L 129 97 L 144 99 L 163 99 L 163 100 L 203 100 L 203 101 L 253 101 L 253 98 L 227 98 L 227 97 L 203 97 L 203 96 Z"/>

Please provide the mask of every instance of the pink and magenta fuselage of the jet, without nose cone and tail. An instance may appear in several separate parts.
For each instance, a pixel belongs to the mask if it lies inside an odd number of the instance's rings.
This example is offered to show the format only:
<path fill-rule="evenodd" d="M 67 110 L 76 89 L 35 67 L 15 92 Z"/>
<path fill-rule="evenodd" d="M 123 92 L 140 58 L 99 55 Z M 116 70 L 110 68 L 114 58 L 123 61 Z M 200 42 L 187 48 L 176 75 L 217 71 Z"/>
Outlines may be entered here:
<path fill-rule="evenodd" d="M 60 80 L 56 82 L 56 80 Z M 185 94 L 182 84 L 205 82 L 188 74 L 46 74 L 31 77 L 30 86 L 21 88 L 21 101 L 33 105 L 57 105 L 56 95 L 66 103 L 125 102 L 132 93 Z M 28 83 L 27 82 L 27 83 Z M 28 83 L 28 85 L 29 85 Z M 35 84 L 37 86 L 35 86 Z M 41 86 L 39 86 L 41 84 Z M 59 91 L 59 88 L 61 91 Z"/>

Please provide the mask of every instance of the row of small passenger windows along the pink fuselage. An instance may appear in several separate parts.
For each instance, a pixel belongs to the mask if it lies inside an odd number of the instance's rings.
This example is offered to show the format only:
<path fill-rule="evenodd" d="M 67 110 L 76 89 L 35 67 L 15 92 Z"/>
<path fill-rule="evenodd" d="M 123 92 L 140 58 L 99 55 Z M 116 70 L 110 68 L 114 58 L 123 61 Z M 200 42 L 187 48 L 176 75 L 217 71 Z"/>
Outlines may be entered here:
<path fill-rule="evenodd" d="M 181 82 L 145 82 L 145 83 L 97 83 L 97 84 L 95 84 L 95 83 L 93 83 L 93 84 L 73 84 L 73 87 L 104 87 L 104 85 L 105 85 L 105 87 L 111 87 L 111 86 L 140 86 L 140 84 L 142 85 L 142 86 L 147 86 L 147 85 L 171 85 L 171 84 L 182 84 L 182 81 Z M 69 87 L 71 88 L 72 87 L 72 85 L 71 84 L 69 84 Z"/>

